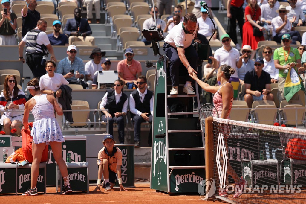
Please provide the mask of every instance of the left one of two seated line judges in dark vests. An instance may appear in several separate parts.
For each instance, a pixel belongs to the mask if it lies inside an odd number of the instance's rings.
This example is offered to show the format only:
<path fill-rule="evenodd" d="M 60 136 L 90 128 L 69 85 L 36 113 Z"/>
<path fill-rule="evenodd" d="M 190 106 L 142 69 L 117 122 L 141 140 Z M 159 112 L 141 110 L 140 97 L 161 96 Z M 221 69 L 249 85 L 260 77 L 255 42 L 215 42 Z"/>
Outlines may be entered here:
<path fill-rule="evenodd" d="M 101 120 L 108 118 L 108 133 L 114 135 L 113 123 L 118 124 L 118 137 L 120 144 L 124 144 L 124 118 L 128 109 L 128 96 L 122 92 L 124 83 L 117 79 L 114 82 L 115 90 L 108 90 L 103 96 L 99 108 L 102 110 Z M 108 112 L 105 111 L 108 109 Z"/>

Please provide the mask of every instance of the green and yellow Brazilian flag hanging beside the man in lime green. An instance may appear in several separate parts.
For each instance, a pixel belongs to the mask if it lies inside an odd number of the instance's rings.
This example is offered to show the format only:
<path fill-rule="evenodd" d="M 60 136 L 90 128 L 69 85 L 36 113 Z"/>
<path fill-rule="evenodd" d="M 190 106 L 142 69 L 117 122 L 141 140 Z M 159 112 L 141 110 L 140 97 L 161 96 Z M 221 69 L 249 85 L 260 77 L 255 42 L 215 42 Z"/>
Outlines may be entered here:
<path fill-rule="evenodd" d="M 300 89 L 305 93 L 305 88 L 301 81 L 302 79 L 297 73 L 297 70 L 294 68 L 289 68 L 284 85 L 284 96 L 287 101 L 289 101 Z"/>

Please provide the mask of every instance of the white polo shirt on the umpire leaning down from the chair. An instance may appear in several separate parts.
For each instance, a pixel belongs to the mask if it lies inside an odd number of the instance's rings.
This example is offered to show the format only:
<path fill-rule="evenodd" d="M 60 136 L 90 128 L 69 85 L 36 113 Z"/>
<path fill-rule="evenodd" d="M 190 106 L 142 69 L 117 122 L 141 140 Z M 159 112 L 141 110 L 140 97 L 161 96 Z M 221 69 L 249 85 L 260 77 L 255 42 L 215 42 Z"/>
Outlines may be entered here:
<path fill-rule="evenodd" d="M 165 42 L 170 44 L 172 47 L 183 47 L 186 49 L 191 45 L 192 40 L 194 39 L 196 35 L 196 30 L 199 27 L 199 23 L 196 23 L 196 29 L 192 34 L 185 33 L 185 28 L 183 25 L 183 22 L 177 24 L 174 26 L 169 34 L 165 38 Z"/>

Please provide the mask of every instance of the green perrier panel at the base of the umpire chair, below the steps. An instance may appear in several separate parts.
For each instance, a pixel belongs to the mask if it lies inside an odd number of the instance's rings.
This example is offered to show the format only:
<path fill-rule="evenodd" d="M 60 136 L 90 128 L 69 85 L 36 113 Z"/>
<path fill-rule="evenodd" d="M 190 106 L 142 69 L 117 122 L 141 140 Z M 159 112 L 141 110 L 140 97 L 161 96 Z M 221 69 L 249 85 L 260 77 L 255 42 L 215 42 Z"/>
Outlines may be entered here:
<path fill-rule="evenodd" d="M 198 192 L 198 185 L 205 180 L 203 169 L 174 169 L 170 175 L 170 191 L 174 193 Z"/>

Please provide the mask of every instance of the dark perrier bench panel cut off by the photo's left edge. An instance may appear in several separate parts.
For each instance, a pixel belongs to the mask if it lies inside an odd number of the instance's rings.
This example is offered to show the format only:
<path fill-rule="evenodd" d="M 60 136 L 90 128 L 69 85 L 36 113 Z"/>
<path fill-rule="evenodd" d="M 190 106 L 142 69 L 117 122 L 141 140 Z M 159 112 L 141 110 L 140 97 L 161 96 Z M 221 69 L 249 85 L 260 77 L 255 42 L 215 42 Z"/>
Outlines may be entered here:
<path fill-rule="evenodd" d="M 16 193 L 16 164 L 9 165 L 0 164 L 0 194 Z"/>

